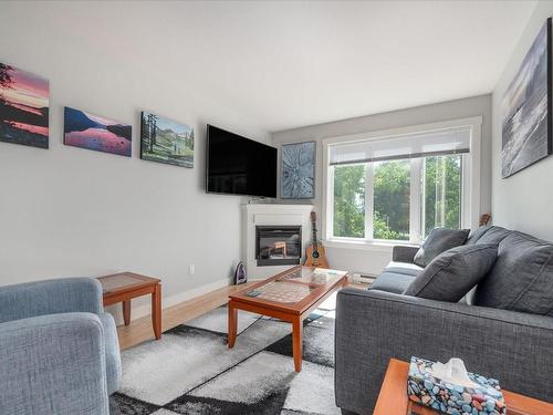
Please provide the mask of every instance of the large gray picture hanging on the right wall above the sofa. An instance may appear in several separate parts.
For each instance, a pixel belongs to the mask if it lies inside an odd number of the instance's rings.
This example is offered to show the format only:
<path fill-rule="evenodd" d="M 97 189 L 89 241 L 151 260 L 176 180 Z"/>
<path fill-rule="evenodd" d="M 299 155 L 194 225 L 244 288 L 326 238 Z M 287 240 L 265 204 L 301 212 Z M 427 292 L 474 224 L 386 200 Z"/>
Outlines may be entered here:
<path fill-rule="evenodd" d="M 551 19 L 547 19 L 503 96 L 503 178 L 551 154 Z"/>

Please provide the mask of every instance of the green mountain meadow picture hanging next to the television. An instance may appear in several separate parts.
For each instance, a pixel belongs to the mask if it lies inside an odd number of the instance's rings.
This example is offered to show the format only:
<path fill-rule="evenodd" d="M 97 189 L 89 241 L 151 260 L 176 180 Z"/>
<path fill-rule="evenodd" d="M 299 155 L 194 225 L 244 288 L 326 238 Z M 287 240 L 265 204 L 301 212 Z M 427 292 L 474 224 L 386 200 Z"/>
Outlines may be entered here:
<path fill-rule="evenodd" d="M 194 128 L 152 113 L 142 113 L 140 158 L 194 167 Z"/>

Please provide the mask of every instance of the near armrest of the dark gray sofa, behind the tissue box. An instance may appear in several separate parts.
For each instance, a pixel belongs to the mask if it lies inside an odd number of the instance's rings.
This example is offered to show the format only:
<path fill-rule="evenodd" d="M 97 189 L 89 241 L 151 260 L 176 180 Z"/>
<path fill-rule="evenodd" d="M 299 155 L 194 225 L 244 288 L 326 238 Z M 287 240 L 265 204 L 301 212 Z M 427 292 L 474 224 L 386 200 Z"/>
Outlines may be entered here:
<path fill-rule="evenodd" d="M 378 290 L 338 292 L 337 406 L 371 414 L 390 357 L 446 362 L 498 378 L 505 390 L 551 401 L 553 319 Z"/>

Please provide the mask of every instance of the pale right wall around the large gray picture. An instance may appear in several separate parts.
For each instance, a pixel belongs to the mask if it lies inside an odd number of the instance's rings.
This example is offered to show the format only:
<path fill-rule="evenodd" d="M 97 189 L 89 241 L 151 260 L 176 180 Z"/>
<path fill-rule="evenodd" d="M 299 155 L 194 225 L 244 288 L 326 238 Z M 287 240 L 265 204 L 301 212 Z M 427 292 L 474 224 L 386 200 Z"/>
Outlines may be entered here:
<path fill-rule="evenodd" d="M 501 101 L 535 35 L 553 15 L 553 2 L 541 1 L 493 90 L 492 214 L 493 221 L 508 228 L 553 240 L 553 157 L 503 179 L 501 178 Z M 550 116 L 552 116 L 550 114 Z"/>

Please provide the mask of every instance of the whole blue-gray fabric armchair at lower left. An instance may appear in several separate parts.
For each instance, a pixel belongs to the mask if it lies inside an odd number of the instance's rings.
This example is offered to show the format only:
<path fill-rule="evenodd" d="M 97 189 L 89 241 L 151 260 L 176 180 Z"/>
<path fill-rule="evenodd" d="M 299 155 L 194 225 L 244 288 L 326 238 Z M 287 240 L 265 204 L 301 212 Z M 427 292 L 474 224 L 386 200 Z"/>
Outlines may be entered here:
<path fill-rule="evenodd" d="M 107 415 L 119 382 L 97 280 L 0 287 L 0 414 Z"/>

